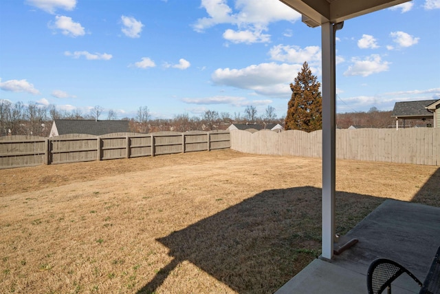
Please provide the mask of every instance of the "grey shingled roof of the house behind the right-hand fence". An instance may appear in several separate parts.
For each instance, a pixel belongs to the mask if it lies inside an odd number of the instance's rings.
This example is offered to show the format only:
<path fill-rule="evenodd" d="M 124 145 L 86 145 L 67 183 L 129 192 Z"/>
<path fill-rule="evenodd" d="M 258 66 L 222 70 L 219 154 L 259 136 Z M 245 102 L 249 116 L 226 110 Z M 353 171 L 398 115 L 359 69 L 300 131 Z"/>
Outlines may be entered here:
<path fill-rule="evenodd" d="M 432 118 L 432 112 L 429 112 L 426 107 L 436 102 L 437 100 L 396 102 L 391 116 L 407 119 Z"/>

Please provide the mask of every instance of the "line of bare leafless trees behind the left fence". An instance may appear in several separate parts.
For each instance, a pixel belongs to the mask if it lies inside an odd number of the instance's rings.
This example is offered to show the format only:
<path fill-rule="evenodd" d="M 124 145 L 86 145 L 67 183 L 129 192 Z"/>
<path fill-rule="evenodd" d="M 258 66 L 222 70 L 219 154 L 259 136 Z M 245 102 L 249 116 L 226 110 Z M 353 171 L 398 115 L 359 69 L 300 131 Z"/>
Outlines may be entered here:
<path fill-rule="evenodd" d="M 12 103 L 8 100 L 0 100 L 0 136 L 28 135 L 49 136 L 52 122 L 55 119 L 76 120 L 118 120 L 118 115 L 113 109 L 106 111 L 107 117 L 102 117 L 104 107 L 96 105 L 89 113 L 83 113 L 79 109 L 72 111 L 60 110 L 56 105 L 39 105 L 35 102 Z M 258 115 L 256 107 L 248 105 L 244 114 L 217 112 L 206 110 L 200 116 L 178 114 L 174 118 L 151 118 L 148 107 L 141 106 L 137 109 L 134 118 L 124 117 L 121 120 L 129 120 L 131 132 L 187 132 L 193 130 L 211 131 L 214 129 L 227 129 L 232 123 L 280 123 L 284 118 L 277 118 L 275 108 L 267 106 L 265 113 Z"/>

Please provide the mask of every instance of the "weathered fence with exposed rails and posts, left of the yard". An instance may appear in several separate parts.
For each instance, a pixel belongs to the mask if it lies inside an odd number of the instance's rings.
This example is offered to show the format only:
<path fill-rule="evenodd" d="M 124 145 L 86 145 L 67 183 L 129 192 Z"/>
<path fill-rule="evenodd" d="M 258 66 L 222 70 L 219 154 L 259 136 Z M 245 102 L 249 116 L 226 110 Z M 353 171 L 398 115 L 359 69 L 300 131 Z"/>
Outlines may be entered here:
<path fill-rule="evenodd" d="M 230 147 L 227 131 L 68 134 L 53 138 L 0 137 L 0 169 L 68 162 L 156 156 Z"/>

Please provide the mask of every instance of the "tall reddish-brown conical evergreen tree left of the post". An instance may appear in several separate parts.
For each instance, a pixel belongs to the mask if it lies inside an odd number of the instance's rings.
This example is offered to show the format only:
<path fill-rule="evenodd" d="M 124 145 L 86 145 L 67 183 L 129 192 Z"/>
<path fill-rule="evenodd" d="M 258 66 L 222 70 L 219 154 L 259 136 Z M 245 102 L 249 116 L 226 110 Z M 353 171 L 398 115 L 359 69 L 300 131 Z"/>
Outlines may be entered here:
<path fill-rule="evenodd" d="M 303 64 L 290 84 L 292 98 L 287 105 L 285 129 L 300 129 L 313 132 L 322 129 L 322 96 L 319 91 L 320 83 L 316 76 L 311 74 L 307 62 Z"/>

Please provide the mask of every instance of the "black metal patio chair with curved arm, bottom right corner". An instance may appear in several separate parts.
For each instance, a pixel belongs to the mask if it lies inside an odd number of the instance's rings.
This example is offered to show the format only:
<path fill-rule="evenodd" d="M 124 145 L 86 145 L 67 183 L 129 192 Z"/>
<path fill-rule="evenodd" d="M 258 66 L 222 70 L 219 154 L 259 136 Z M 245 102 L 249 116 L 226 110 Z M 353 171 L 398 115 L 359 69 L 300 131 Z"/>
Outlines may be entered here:
<path fill-rule="evenodd" d="M 408 269 L 393 260 L 386 258 L 374 260 L 366 274 L 366 287 L 369 294 L 380 294 L 385 289 L 387 289 L 388 294 L 391 294 L 391 283 L 403 273 L 412 277 L 412 280 L 415 280 L 421 286 L 419 293 L 440 294 L 440 247 L 437 249 L 437 254 L 432 260 L 430 270 L 423 284 Z"/>

